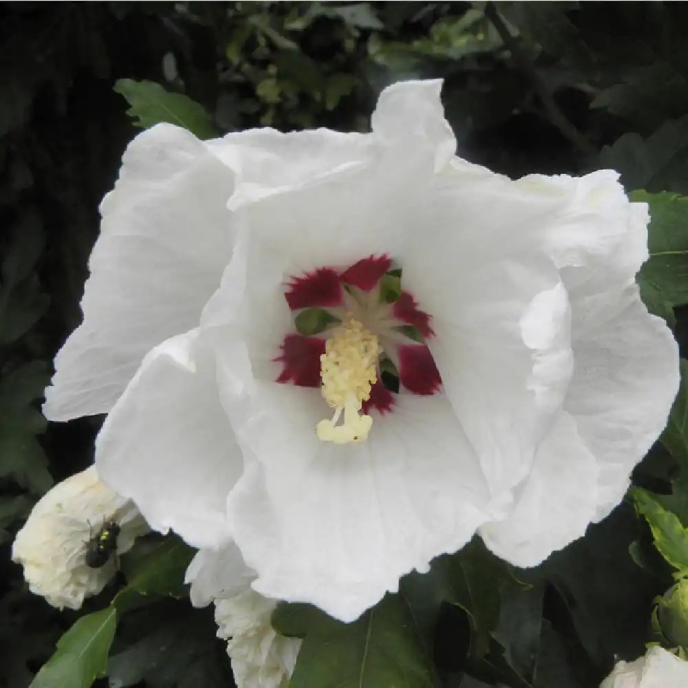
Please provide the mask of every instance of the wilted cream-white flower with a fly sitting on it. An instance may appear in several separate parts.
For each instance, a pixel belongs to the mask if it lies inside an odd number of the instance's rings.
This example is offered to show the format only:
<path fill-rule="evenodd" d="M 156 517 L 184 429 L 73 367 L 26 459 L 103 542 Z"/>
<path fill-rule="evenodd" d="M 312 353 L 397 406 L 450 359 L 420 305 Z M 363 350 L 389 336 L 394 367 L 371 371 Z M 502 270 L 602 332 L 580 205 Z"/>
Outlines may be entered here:
<path fill-rule="evenodd" d="M 24 567 L 31 592 L 58 609 L 79 609 L 84 598 L 98 594 L 116 572 L 115 557 L 103 566 L 86 563 L 89 539 L 103 524 L 120 526 L 117 553 L 149 530 L 129 499 L 98 480 L 96 467 L 56 484 L 34 506 L 12 547 L 12 559 Z"/>

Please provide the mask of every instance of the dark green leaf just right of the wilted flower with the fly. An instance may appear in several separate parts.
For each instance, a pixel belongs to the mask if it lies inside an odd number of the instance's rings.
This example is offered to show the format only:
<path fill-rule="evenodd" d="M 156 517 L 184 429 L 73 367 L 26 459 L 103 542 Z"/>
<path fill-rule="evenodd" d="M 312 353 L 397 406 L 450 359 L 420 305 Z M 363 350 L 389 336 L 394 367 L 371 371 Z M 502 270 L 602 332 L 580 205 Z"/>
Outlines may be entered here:
<path fill-rule="evenodd" d="M 138 604 L 140 595 L 183 597 L 186 595 L 184 572 L 195 550 L 176 535 L 166 537 L 144 557 L 123 566 L 127 587 L 117 594 L 113 604 L 123 611 Z"/>

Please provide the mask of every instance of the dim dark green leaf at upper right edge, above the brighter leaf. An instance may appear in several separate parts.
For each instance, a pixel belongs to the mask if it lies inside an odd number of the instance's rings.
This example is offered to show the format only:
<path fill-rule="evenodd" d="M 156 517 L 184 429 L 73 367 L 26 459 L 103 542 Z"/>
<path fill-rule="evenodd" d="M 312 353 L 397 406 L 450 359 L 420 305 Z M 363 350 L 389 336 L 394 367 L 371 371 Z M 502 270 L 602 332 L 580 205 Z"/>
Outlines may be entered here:
<path fill-rule="evenodd" d="M 626 189 L 688 193 L 688 116 L 665 122 L 652 136 L 625 133 L 600 153 Z"/>

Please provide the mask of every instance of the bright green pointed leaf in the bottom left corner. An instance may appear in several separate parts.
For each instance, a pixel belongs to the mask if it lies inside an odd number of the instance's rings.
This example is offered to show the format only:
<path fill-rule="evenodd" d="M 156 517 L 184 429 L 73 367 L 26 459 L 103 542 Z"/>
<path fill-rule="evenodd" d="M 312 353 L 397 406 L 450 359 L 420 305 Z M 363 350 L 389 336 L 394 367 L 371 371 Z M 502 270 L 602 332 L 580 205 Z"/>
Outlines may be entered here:
<path fill-rule="evenodd" d="M 105 674 L 116 627 L 117 612 L 112 607 L 82 616 L 60 638 L 30 688 L 88 688 Z"/>

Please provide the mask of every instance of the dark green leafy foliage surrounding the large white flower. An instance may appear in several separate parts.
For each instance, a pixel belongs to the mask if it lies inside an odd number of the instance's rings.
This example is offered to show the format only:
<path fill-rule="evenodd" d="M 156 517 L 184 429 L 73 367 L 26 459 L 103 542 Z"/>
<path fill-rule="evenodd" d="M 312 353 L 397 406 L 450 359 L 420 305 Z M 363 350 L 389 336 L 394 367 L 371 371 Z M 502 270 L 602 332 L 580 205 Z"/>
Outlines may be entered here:
<path fill-rule="evenodd" d="M 100 419 L 46 424 L 39 402 L 79 322 L 98 203 L 135 126 L 365 131 L 385 85 L 442 77 L 472 162 L 515 177 L 610 166 L 628 191 L 645 190 L 652 258 L 638 280 L 687 355 L 686 3 L 5 3 L 0 15 L 0 688 L 25 688 L 70 626 L 34 685 L 82 685 L 60 671 L 83 685 L 104 671 L 114 687 L 231 685 L 211 610 L 167 597 L 184 594 L 189 552 L 175 541 L 142 541 L 121 580 L 78 613 L 32 596 L 10 562 L 36 499 L 92 460 Z M 652 536 L 676 563 L 669 536 L 688 526 L 685 404 L 684 391 L 663 446 L 634 473 L 652 531 L 625 504 L 532 571 L 475 543 L 440 557 L 431 585 L 411 574 L 375 612 L 381 673 L 370 680 L 398 669 L 385 643 L 427 678 L 418 685 L 446 688 L 595 686 L 616 658 L 641 654 L 652 600 L 672 585 Z M 302 614 L 290 632 L 306 637 L 305 656 L 327 650 L 312 625 L 356 658 L 369 621 Z M 404 634 L 387 637 L 385 623 Z M 87 638 L 99 656 L 81 652 Z M 305 666 L 294 686 L 326 685 Z"/>

